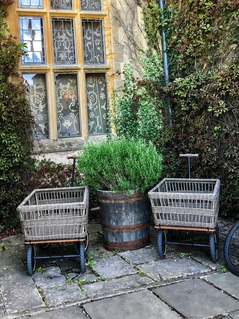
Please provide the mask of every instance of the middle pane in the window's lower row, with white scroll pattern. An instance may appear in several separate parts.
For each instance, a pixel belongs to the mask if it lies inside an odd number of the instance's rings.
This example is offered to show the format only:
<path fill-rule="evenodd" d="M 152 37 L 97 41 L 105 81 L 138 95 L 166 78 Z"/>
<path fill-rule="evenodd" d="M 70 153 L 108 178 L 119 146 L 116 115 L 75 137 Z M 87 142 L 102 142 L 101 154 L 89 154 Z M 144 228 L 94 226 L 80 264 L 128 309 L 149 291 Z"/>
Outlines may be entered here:
<path fill-rule="evenodd" d="M 81 134 L 77 88 L 77 74 L 55 74 L 58 137 L 79 136 Z"/>

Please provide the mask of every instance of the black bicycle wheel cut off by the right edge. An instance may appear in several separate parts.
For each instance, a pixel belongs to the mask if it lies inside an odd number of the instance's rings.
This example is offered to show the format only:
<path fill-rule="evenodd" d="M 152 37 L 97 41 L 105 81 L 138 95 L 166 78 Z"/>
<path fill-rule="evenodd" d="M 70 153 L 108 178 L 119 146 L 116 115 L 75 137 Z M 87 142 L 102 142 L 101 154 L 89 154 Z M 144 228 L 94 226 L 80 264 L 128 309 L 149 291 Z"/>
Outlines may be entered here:
<path fill-rule="evenodd" d="M 232 226 L 226 236 L 223 254 L 228 269 L 239 277 L 239 221 Z"/>

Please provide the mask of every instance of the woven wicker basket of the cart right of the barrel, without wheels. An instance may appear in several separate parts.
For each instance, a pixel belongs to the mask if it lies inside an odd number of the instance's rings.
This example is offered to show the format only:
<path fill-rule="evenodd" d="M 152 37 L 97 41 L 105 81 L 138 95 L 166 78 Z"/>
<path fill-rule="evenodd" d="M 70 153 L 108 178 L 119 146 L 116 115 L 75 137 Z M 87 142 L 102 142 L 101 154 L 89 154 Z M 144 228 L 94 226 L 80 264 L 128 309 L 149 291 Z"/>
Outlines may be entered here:
<path fill-rule="evenodd" d="M 164 178 L 148 192 L 157 226 L 215 228 L 220 181 Z"/>

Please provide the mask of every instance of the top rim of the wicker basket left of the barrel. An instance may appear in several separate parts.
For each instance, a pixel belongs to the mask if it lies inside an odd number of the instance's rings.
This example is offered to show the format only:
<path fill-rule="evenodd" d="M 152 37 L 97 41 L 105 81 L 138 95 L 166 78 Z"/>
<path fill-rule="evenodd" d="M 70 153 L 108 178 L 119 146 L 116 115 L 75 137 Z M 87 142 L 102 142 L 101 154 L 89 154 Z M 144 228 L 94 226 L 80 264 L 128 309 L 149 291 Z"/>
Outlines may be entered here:
<path fill-rule="evenodd" d="M 22 202 L 21 204 L 18 205 L 17 207 L 17 211 L 21 212 L 22 208 L 37 208 L 39 209 L 39 207 L 41 208 L 51 208 L 54 207 L 55 205 L 58 204 L 36 204 L 36 205 L 25 205 L 26 202 L 38 191 L 59 191 L 59 190 L 77 190 L 77 189 L 84 189 L 84 197 L 83 197 L 83 201 L 75 201 L 75 202 L 69 202 L 69 203 L 59 203 L 61 204 L 61 206 L 65 207 L 65 206 L 73 206 L 73 205 L 87 205 L 88 204 L 88 195 L 89 195 L 89 189 L 88 186 L 77 186 L 77 187 L 59 187 L 59 188 L 39 188 L 39 189 L 34 189 Z"/>

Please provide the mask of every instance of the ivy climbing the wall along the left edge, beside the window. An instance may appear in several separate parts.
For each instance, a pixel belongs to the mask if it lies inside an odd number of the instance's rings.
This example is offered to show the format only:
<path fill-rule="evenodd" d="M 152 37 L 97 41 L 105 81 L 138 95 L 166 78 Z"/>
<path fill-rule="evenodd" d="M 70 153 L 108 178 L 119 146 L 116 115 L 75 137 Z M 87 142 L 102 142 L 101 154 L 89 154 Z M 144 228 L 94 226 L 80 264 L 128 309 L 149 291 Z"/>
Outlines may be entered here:
<path fill-rule="evenodd" d="M 26 83 L 17 73 L 24 44 L 10 34 L 4 21 L 12 3 L 0 3 L 0 229 L 18 223 L 16 206 L 25 196 L 33 163 L 32 115 L 24 97 Z"/>

